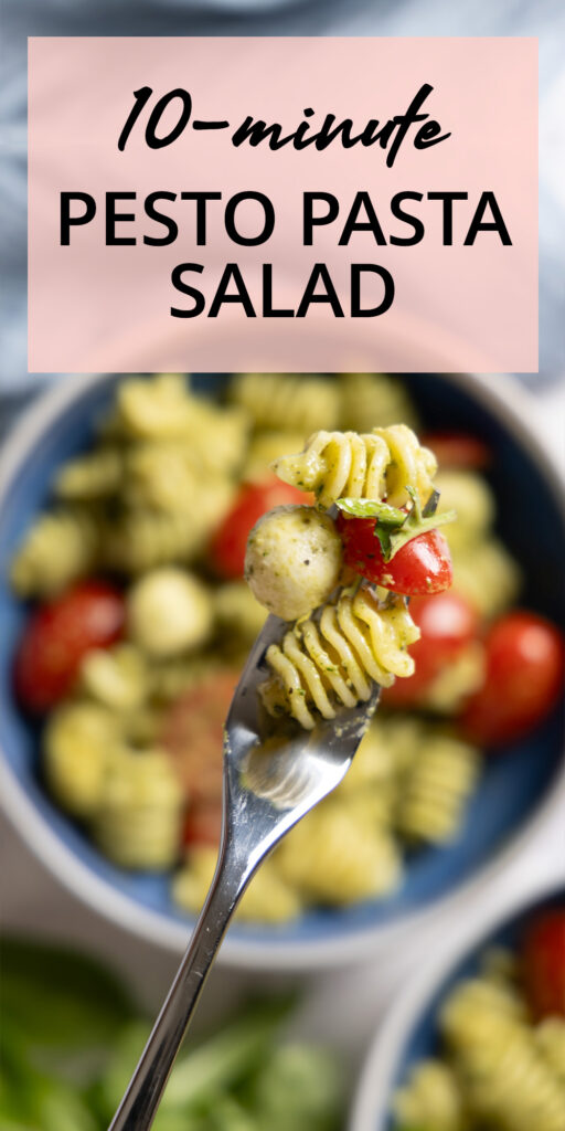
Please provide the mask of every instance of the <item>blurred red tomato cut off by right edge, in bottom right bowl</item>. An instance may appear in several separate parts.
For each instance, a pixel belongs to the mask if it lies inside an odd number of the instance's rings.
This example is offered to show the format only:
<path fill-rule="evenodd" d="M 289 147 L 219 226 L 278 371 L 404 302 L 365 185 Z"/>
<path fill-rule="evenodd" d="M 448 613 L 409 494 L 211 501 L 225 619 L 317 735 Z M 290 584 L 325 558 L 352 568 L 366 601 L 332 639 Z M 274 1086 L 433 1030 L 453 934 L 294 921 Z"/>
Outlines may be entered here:
<path fill-rule="evenodd" d="M 536 1020 L 565 1017 L 565 908 L 534 922 L 522 944 L 525 995 Z"/>

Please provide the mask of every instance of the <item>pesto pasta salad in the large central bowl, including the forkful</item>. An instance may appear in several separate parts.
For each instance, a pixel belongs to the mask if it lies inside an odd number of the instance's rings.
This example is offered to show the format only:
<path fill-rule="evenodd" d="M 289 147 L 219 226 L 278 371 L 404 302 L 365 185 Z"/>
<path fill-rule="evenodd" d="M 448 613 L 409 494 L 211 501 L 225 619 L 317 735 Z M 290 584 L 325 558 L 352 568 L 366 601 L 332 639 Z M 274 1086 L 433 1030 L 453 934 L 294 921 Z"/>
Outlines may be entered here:
<path fill-rule="evenodd" d="M 216 862 L 223 724 L 266 616 L 244 580 L 253 527 L 250 580 L 298 622 L 271 653 L 268 708 L 293 699 L 308 726 L 367 680 L 384 691 L 353 768 L 264 863 L 243 918 L 395 890 L 410 854 L 460 835 L 481 746 L 555 700 L 563 641 L 510 607 L 520 572 L 494 533 L 490 454 L 468 435 L 420 444 L 418 428 L 388 377 L 241 374 L 217 400 L 182 375 L 127 378 L 15 555 L 31 602 L 15 687 L 42 722 L 41 779 L 116 865 L 169 874 L 190 912 Z"/>

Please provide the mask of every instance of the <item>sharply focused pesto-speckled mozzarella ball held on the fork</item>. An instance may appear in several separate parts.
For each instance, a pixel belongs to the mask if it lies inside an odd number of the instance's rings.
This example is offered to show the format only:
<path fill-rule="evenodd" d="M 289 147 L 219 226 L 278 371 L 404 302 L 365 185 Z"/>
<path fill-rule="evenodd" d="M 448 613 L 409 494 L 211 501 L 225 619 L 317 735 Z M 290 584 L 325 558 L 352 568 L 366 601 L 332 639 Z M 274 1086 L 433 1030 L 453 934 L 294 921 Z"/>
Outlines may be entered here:
<path fill-rule="evenodd" d="M 314 507 L 276 507 L 247 539 L 245 579 L 257 599 L 285 621 L 306 616 L 327 601 L 341 566 L 333 520 Z"/>

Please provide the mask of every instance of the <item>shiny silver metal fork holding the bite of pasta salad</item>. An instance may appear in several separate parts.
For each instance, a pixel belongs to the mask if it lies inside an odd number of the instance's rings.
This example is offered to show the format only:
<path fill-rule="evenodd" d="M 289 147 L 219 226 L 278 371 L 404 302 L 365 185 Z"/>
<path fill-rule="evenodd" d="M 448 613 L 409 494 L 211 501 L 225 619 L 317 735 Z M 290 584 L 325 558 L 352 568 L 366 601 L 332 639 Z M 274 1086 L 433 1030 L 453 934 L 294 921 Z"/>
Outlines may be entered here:
<path fill-rule="evenodd" d="M 380 688 L 337 718 L 304 731 L 272 719 L 259 685 L 264 656 L 288 624 L 269 616 L 237 685 L 224 739 L 224 818 L 216 873 L 186 953 L 108 1131 L 150 1128 L 182 1038 L 232 915 L 275 845 L 349 769 L 376 709 Z"/>

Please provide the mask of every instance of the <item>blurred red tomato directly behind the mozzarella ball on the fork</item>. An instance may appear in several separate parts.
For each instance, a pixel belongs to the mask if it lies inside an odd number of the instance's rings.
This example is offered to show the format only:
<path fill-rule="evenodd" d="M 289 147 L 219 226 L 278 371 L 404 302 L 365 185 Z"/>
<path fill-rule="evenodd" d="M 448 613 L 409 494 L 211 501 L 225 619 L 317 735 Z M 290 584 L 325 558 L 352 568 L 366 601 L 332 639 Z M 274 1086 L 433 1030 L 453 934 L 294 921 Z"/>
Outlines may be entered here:
<path fill-rule="evenodd" d="M 261 515 L 286 503 L 312 502 L 312 495 L 281 483 L 272 476 L 264 483 L 245 483 L 216 532 L 210 545 L 210 560 L 220 577 L 243 577 L 247 536 Z"/>

